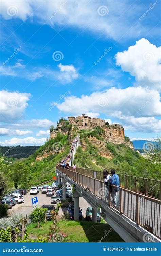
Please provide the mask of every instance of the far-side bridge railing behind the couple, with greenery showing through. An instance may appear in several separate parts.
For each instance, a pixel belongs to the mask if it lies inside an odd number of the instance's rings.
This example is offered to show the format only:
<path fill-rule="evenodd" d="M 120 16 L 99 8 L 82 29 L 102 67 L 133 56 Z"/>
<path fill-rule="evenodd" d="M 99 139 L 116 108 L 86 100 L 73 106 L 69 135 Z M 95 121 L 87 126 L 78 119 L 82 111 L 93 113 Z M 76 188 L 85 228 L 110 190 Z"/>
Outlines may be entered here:
<path fill-rule="evenodd" d="M 72 167 L 69 167 L 73 170 Z M 103 173 L 101 171 L 95 171 L 84 168 L 76 168 L 76 172 L 86 175 L 88 177 L 103 181 Z M 128 190 L 138 192 L 140 194 L 146 195 L 148 197 L 153 197 L 156 199 L 161 199 L 161 181 L 147 179 L 137 176 L 130 176 L 124 174 L 118 174 L 120 187 L 126 188 Z"/>

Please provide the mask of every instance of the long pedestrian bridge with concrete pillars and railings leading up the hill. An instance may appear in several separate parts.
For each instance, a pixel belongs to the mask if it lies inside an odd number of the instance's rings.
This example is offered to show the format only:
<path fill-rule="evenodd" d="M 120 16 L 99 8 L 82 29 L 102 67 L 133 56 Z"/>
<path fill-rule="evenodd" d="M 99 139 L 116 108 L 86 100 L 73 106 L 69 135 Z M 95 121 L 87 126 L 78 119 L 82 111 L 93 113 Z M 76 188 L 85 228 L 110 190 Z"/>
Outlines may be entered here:
<path fill-rule="evenodd" d="M 78 141 L 73 148 L 74 159 Z M 72 164 L 71 162 L 71 164 Z M 92 221 L 97 212 L 126 242 L 160 242 L 161 238 L 161 181 L 119 175 L 120 186 L 109 185 L 108 190 L 100 171 L 76 168 L 76 172 L 56 166 L 58 181 L 74 186 L 74 219 L 79 220 L 79 197 L 92 206 Z M 117 203 L 112 192 L 119 188 Z M 65 186 L 63 186 L 65 199 Z M 115 199 L 116 200 L 116 199 Z"/>

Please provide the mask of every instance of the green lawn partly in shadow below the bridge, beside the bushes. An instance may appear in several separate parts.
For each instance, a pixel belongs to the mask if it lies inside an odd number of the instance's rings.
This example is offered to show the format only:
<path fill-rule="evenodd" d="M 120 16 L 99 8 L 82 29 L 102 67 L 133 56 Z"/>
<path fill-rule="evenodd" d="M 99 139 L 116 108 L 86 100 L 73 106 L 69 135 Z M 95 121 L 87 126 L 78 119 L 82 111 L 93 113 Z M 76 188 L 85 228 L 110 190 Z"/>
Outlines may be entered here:
<path fill-rule="evenodd" d="M 36 223 L 31 223 L 27 225 L 26 232 L 29 237 L 48 237 L 52 225 L 52 221 L 47 221 L 41 223 L 40 228 L 37 228 Z M 57 227 L 57 232 L 63 232 L 67 236 L 63 242 L 124 242 L 104 221 L 95 224 L 87 221 L 60 221 L 57 223 Z"/>

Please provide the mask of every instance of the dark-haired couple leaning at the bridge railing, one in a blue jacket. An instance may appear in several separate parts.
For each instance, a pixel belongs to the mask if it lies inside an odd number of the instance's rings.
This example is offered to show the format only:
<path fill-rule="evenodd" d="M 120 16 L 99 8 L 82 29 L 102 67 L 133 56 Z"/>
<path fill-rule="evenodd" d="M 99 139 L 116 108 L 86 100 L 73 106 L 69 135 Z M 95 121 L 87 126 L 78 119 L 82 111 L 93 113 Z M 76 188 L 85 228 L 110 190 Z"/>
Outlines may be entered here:
<path fill-rule="evenodd" d="M 115 174 L 114 169 L 111 169 L 111 175 L 106 169 L 103 170 L 104 182 L 106 184 L 107 189 L 106 196 L 108 195 L 108 191 L 110 189 L 112 197 L 112 206 L 119 208 L 119 176 Z M 114 185 L 118 187 L 113 187 L 109 185 Z"/>

